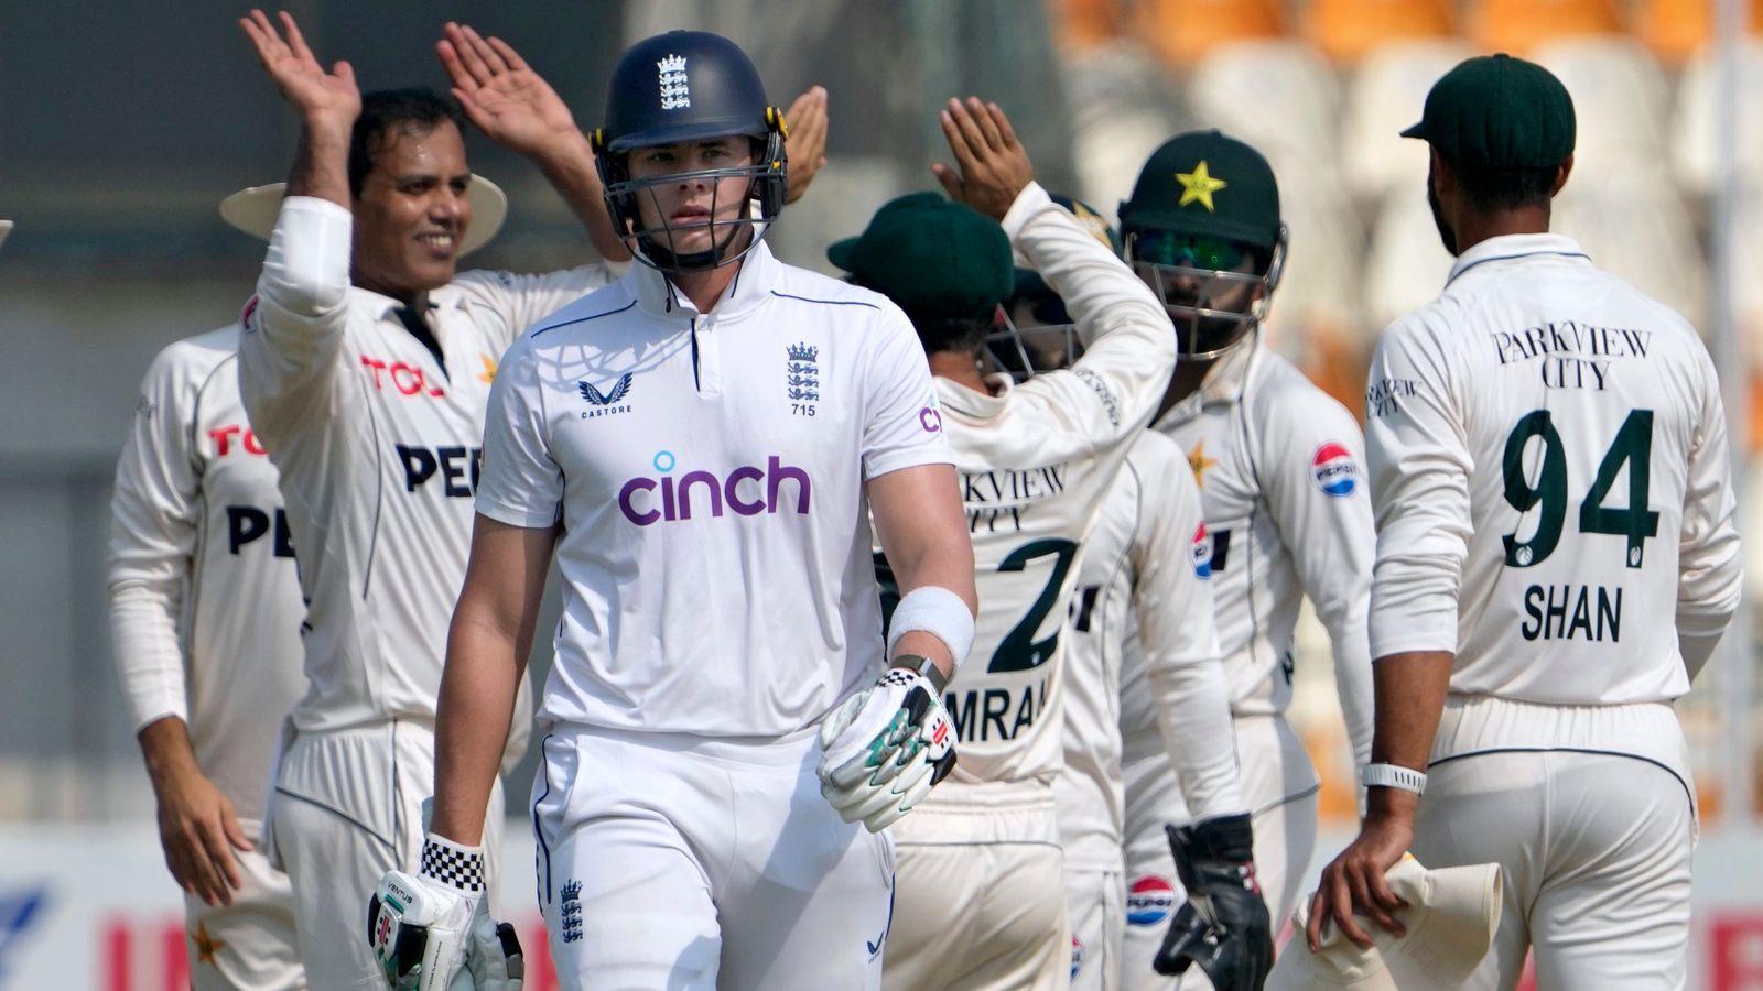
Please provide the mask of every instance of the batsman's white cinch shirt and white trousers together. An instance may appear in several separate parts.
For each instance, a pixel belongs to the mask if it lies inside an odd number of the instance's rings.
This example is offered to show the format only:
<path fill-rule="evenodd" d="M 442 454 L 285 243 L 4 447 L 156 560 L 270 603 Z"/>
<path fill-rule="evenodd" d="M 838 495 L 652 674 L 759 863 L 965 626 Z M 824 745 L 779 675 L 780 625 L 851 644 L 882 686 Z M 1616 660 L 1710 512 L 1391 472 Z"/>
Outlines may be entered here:
<path fill-rule="evenodd" d="M 820 797 L 815 732 L 883 667 L 866 483 L 948 444 L 897 307 L 740 265 L 710 312 L 635 268 L 492 390 L 478 511 L 561 524 L 534 829 L 566 987 L 880 980 L 892 852 Z"/>

